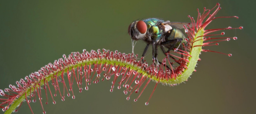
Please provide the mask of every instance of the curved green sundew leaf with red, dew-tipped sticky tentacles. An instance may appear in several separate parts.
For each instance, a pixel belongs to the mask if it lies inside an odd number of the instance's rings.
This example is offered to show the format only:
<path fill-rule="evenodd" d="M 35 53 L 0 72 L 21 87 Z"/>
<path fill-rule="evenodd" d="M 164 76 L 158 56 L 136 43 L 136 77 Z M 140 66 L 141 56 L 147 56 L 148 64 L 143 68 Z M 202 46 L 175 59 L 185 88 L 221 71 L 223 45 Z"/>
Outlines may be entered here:
<path fill-rule="evenodd" d="M 195 71 L 197 61 L 201 60 L 199 58 L 201 52 L 221 53 L 205 50 L 202 47 L 238 39 L 223 36 L 225 33 L 222 30 L 242 29 L 242 26 L 205 29 L 215 19 L 238 18 L 237 16 L 217 17 L 216 14 L 220 9 L 220 4 L 217 3 L 212 9 L 204 8 L 203 11 L 197 9 L 197 18 L 188 16 L 191 23 L 183 26 L 187 34 L 185 40 L 188 44 L 181 44 L 184 50 L 175 49 L 166 53 L 166 57 L 159 65 L 143 63 L 143 58 L 134 53 L 126 54 L 105 49 L 86 51 L 84 49 L 82 53 L 63 55 L 63 58 L 16 81 L 16 85 L 10 84 L 9 88 L 0 89 L 0 108 L 5 114 L 11 114 L 18 112 L 21 104 L 27 104 L 31 113 L 34 114 L 30 104 L 40 102 L 42 113 L 46 114 L 47 109 L 44 105 L 56 104 L 55 99 L 60 98 L 62 101 L 69 97 L 74 99 L 77 92 L 73 91 L 73 88 L 79 88 L 79 92 L 82 93 L 91 85 L 111 78 L 113 81 L 110 92 L 113 92 L 115 87 L 123 89 L 127 100 L 130 100 L 131 95 L 137 95 L 135 99 L 132 99 L 135 102 L 150 82 L 155 83 L 152 94 L 145 101 L 145 105 L 149 105 L 149 100 L 159 83 L 176 86 L 188 80 Z M 221 54 L 232 56 L 232 54 Z M 178 63 L 179 66 L 173 66 L 173 63 Z M 47 93 L 50 96 L 47 96 Z M 46 97 L 43 98 L 43 94 L 46 94 Z"/>

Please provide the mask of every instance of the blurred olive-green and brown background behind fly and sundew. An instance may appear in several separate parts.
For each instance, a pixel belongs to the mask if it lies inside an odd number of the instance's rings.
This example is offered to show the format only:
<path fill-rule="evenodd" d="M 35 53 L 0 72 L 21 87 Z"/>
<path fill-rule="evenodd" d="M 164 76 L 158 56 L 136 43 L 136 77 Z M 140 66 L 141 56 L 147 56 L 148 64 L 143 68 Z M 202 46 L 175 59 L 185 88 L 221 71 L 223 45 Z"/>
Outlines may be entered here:
<path fill-rule="evenodd" d="M 110 92 L 111 81 L 92 84 L 88 91 L 75 91 L 76 99 L 44 105 L 47 114 L 256 114 L 255 4 L 253 0 L 219 0 L 219 16 L 238 16 L 215 20 L 208 28 L 239 27 L 225 36 L 238 40 L 204 47 L 223 53 L 202 53 L 197 72 L 186 84 L 157 86 L 149 105 L 145 102 L 155 83 L 133 102 L 123 89 Z M 63 54 L 82 49 L 119 50 L 131 53 L 128 25 L 137 19 L 162 18 L 190 22 L 197 8 L 208 9 L 216 0 L 1 0 L 0 1 L 0 89 L 54 62 Z M 220 32 L 219 32 L 220 33 Z M 135 53 L 142 54 L 140 41 Z M 151 50 L 147 53 L 150 61 Z M 163 57 L 163 56 L 161 56 Z M 159 57 L 159 58 L 161 58 Z M 84 87 L 83 87 L 84 88 Z M 45 100 L 44 98 L 43 100 Z M 35 114 L 42 114 L 40 102 L 31 103 Z M 18 114 L 30 114 L 27 103 Z M 1 111 L 0 114 L 3 114 Z"/>

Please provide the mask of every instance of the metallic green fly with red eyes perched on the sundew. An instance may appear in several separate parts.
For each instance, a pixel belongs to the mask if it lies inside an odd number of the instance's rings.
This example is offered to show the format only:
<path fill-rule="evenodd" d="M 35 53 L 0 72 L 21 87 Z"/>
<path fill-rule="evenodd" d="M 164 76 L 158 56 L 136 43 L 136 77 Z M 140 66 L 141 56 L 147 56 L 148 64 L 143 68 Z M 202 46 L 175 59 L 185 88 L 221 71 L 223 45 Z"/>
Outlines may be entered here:
<path fill-rule="evenodd" d="M 184 50 L 181 44 L 187 44 L 187 41 L 185 40 L 187 37 L 183 34 L 181 29 L 186 25 L 190 26 L 189 23 L 170 22 L 157 18 L 148 18 L 132 22 L 128 27 L 128 33 L 131 36 L 132 42 L 134 40 L 143 40 L 146 42 L 146 47 L 142 57 L 145 56 L 148 46 L 152 44 L 153 61 L 155 60 L 162 64 L 162 62 L 158 61 L 156 58 L 158 54 L 158 46 L 161 47 L 161 50 L 165 55 L 174 49 Z M 165 48 L 168 50 L 165 51 Z M 170 57 L 174 59 L 174 57 Z M 142 62 L 144 62 L 144 60 Z"/>

